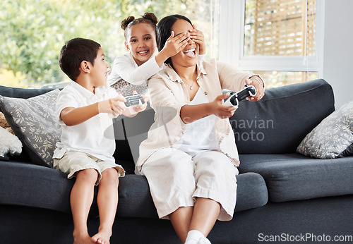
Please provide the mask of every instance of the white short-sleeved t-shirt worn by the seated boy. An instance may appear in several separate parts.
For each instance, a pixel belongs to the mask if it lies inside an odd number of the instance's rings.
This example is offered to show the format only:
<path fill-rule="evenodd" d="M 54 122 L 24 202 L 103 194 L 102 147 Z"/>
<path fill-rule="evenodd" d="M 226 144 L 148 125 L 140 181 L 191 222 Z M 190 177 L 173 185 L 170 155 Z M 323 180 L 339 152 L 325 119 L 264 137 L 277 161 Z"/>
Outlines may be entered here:
<path fill-rule="evenodd" d="M 95 94 L 78 83 L 71 82 L 58 95 L 56 118 L 61 131 L 61 140 L 56 142 L 54 159 L 61 159 L 65 152 L 85 152 L 103 161 L 114 161 L 115 139 L 112 117 L 100 113 L 76 126 L 66 126 L 60 113 L 66 107 L 82 107 L 116 97 L 117 92 L 108 87 L 96 87 Z"/>

